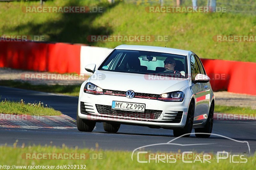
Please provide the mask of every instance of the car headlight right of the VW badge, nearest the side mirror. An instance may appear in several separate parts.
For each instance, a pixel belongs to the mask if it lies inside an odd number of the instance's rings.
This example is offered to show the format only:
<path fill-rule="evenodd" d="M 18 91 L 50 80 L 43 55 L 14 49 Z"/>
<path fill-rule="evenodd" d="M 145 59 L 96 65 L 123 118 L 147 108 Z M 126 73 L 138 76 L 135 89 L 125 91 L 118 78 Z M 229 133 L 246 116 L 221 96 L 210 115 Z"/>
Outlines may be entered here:
<path fill-rule="evenodd" d="M 185 94 L 182 91 L 173 91 L 170 93 L 164 93 L 160 95 L 157 100 L 164 102 L 182 102 Z"/>

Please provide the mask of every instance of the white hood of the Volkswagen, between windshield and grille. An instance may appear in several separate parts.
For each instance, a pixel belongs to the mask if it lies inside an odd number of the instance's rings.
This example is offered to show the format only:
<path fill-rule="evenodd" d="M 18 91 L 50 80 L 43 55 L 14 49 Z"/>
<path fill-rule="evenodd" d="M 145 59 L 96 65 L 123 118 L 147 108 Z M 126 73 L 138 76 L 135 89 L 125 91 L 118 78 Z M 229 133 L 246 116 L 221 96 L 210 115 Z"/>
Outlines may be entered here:
<path fill-rule="evenodd" d="M 154 76 L 145 74 L 120 73 L 111 71 L 99 71 L 90 77 L 90 82 L 102 89 L 128 91 L 138 93 L 163 94 L 177 91 L 188 85 L 188 79 L 170 80 L 170 77 Z M 164 80 L 163 80 L 164 79 Z"/>

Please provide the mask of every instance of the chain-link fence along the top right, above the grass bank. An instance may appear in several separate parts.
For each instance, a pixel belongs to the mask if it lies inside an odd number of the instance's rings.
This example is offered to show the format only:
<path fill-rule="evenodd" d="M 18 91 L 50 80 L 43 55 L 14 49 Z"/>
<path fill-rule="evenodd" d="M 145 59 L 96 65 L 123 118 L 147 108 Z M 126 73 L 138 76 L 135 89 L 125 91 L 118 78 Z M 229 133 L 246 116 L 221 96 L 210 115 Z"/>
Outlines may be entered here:
<path fill-rule="evenodd" d="M 122 0 L 137 5 L 161 6 L 211 6 L 213 0 Z M 225 7 L 227 12 L 256 15 L 256 0 L 216 0 L 216 6 Z"/>

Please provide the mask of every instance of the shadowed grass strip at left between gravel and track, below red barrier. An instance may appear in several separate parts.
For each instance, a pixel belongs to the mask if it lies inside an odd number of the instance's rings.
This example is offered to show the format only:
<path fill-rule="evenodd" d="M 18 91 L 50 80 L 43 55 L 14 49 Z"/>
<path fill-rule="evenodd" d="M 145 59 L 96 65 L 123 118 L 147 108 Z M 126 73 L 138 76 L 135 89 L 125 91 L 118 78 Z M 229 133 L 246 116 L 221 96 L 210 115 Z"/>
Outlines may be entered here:
<path fill-rule="evenodd" d="M 0 86 L 7 86 L 19 89 L 29 89 L 49 93 L 59 93 L 69 96 L 79 96 L 81 85 L 32 85 L 28 82 L 23 81 L 0 80 Z"/>

